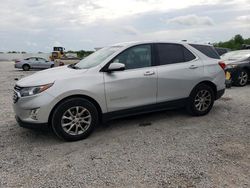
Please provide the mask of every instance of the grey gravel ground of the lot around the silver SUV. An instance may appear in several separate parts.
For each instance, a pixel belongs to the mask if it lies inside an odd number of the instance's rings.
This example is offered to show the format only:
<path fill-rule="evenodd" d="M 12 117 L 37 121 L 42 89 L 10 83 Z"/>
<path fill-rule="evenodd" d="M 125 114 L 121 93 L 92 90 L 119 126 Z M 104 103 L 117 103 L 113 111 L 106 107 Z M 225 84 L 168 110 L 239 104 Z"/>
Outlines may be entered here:
<path fill-rule="evenodd" d="M 69 143 L 15 122 L 14 78 L 32 73 L 0 62 L 0 187 L 250 187 L 250 85 L 204 117 L 120 119 Z"/>

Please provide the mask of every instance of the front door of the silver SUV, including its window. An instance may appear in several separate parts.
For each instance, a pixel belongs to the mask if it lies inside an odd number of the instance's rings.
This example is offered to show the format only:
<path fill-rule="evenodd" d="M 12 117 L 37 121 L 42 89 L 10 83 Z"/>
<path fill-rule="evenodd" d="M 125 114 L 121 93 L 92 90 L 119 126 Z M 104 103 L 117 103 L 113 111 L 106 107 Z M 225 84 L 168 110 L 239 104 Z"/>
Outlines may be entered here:
<path fill-rule="evenodd" d="M 151 52 L 151 44 L 138 45 L 114 58 L 112 62 L 125 64 L 125 70 L 104 73 L 109 112 L 156 103 L 157 71 Z"/>

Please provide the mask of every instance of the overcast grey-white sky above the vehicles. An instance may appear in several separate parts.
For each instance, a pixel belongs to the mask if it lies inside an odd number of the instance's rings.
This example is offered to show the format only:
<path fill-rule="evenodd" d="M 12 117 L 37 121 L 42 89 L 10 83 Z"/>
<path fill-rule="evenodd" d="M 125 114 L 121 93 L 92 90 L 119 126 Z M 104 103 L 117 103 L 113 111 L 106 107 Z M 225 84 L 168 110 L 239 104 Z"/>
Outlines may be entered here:
<path fill-rule="evenodd" d="M 0 0 L 0 51 L 250 37 L 250 0 Z"/>

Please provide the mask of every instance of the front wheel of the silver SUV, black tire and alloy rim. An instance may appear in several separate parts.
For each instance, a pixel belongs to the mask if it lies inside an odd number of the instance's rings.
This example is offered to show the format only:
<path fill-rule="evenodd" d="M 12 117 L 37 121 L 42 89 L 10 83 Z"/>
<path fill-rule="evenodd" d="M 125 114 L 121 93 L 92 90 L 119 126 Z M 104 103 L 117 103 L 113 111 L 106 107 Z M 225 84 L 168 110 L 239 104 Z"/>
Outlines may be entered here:
<path fill-rule="evenodd" d="M 53 132 L 66 141 L 87 138 L 97 125 L 96 107 L 83 98 L 71 98 L 63 101 L 56 107 L 51 119 Z"/>

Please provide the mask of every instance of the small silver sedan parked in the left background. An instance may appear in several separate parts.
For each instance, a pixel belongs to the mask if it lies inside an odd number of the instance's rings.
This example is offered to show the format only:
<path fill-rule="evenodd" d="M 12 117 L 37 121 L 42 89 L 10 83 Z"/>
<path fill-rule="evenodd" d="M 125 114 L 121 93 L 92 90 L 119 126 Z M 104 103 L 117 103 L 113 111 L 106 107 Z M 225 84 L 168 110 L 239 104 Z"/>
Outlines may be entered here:
<path fill-rule="evenodd" d="M 21 61 L 15 61 L 15 68 L 28 71 L 30 69 L 48 69 L 54 67 L 53 61 L 48 61 L 41 57 L 30 57 Z"/>

